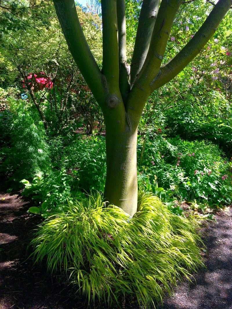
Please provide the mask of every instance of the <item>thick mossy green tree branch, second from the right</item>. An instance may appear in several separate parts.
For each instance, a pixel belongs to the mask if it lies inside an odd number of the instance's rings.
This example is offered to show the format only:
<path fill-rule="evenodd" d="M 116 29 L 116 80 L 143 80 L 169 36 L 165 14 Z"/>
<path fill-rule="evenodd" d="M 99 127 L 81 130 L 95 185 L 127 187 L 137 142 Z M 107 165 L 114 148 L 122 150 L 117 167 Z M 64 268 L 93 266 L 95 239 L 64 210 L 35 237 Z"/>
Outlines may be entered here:
<path fill-rule="evenodd" d="M 159 74 L 171 27 L 182 0 L 162 0 L 144 65 L 128 96 L 126 112 L 131 125 L 137 126 L 153 83 Z"/>

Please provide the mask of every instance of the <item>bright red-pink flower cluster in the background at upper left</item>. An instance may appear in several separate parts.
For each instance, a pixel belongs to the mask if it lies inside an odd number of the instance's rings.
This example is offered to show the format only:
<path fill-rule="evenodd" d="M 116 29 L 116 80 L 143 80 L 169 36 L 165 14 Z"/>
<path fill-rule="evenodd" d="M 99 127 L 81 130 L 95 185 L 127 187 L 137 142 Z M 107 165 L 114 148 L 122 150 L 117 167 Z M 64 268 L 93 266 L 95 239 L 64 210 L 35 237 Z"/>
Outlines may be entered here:
<path fill-rule="evenodd" d="M 39 72 L 37 74 L 30 73 L 27 76 L 27 80 L 24 79 L 23 81 L 23 88 L 26 88 L 27 83 L 34 92 L 43 90 L 44 88 L 52 89 L 53 87 L 53 82 L 45 72 Z"/>

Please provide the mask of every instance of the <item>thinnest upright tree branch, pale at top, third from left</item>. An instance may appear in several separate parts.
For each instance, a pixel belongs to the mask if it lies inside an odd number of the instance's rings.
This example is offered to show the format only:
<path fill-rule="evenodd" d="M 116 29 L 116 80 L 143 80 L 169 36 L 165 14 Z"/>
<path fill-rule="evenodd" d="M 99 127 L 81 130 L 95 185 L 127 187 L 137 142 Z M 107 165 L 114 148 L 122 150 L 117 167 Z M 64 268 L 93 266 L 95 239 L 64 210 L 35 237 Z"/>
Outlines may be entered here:
<path fill-rule="evenodd" d="M 127 64 L 127 35 L 125 0 L 117 0 L 119 89 L 125 102 L 130 91 L 130 66 Z"/>

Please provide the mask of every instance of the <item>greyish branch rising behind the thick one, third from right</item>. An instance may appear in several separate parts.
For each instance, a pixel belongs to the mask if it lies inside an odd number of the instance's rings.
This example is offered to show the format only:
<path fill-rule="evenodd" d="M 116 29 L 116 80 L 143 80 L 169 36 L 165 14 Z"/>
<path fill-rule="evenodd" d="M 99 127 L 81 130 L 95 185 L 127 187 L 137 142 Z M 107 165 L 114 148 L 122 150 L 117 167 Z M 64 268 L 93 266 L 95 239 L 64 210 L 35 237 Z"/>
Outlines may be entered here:
<path fill-rule="evenodd" d="M 131 87 L 147 57 L 160 0 L 144 0 L 139 17 L 135 47 L 131 60 Z"/>

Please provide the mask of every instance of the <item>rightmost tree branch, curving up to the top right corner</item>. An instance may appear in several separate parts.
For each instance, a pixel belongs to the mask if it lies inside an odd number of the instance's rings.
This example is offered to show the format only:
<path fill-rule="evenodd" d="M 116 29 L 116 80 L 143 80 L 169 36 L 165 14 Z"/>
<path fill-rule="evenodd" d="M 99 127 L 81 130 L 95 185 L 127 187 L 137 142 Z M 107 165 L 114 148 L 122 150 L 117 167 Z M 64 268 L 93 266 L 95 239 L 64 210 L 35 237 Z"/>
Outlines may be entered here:
<path fill-rule="evenodd" d="M 219 23 L 226 15 L 227 11 L 229 11 L 231 4 L 232 0 L 219 0 L 217 2 L 194 37 L 173 59 L 161 67 L 160 74 L 153 83 L 153 91 L 173 79 L 198 53 L 200 53 L 201 49 L 217 30 Z"/>

